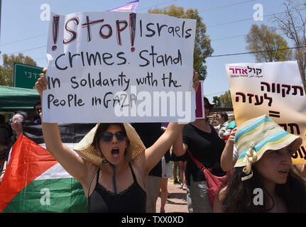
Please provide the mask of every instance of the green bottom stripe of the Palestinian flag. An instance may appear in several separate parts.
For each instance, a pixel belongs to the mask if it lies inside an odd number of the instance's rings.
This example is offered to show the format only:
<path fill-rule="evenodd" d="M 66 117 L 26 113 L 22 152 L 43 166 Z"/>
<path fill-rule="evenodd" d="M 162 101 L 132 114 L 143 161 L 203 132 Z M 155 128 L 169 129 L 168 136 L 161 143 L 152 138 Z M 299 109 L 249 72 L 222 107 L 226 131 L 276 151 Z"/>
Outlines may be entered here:
<path fill-rule="evenodd" d="M 86 197 L 75 178 L 34 180 L 13 198 L 5 212 L 87 212 Z"/>

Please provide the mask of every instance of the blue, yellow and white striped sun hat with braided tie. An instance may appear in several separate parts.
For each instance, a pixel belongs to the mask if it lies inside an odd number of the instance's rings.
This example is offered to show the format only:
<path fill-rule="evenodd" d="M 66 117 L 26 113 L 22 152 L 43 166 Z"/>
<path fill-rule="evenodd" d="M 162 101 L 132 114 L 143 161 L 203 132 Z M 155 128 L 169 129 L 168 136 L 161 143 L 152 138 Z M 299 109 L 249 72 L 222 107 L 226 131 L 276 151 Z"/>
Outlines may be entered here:
<path fill-rule="evenodd" d="M 245 166 L 243 171 L 247 175 L 241 180 L 253 176 L 251 165 L 260 160 L 266 150 L 280 150 L 290 144 L 295 153 L 302 144 L 302 138 L 286 132 L 266 115 L 242 123 L 235 135 L 239 153 L 235 167 Z"/>

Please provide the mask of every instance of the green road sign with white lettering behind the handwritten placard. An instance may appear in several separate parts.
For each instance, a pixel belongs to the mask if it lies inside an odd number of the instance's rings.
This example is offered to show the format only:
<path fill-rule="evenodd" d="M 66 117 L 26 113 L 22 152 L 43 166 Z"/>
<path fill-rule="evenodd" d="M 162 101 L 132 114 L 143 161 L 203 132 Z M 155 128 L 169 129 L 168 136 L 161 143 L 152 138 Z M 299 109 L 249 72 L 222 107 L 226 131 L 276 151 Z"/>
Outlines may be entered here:
<path fill-rule="evenodd" d="M 13 87 L 33 89 L 42 72 L 42 67 L 13 62 Z"/>

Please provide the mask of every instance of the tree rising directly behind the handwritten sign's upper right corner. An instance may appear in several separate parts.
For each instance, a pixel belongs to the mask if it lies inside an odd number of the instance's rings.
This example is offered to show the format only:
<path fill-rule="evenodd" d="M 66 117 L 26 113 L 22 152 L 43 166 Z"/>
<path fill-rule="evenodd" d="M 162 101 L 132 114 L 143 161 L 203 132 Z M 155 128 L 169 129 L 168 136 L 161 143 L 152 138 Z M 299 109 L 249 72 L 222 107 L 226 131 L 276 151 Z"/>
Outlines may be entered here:
<path fill-rule="evenodd" d="M 207 76 L 206 58 L 212 55 L 214 50 L 210 45 L 209 35 L 206 35 L 206 25 L 202 22 L 197 9 L 187 9 L 175 5 L 163 9 L 149 9 L 148 13 L 160 13 L 178 18 L 195 19 L 197 21 L 197 31 L 195 35 L 195 50 L 193 52 L 193 67 L 199 74 L 199 79 L 204 80 Z"/>

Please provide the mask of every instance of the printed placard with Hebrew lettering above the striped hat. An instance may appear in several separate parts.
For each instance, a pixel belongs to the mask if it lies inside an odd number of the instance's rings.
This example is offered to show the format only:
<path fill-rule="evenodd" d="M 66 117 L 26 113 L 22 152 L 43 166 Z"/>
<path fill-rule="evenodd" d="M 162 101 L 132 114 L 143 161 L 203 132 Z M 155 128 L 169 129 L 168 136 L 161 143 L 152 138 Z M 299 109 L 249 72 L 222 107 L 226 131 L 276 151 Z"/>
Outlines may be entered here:
<path fill-rule="evenodd" d="M 293 164 L 306 164 L 306 96 L 297 62 L 227 64 L 237 126 L 266 114 L 303 144 Z"/>

